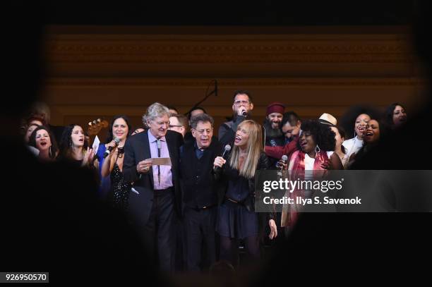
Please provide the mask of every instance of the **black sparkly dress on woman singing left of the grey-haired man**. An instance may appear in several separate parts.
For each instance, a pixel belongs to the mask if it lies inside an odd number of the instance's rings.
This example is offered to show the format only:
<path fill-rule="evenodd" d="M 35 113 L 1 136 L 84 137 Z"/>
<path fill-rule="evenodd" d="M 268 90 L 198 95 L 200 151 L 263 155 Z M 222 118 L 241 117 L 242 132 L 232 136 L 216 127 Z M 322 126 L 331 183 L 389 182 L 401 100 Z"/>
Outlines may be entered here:
<path fill-rule="evenodd" d="M 114 164 L 109 177 L 111 178 L 110 200 L 115 208 L 126 211 L 131 183 L 124 180 L 124 175 L 117 162 Z"/>

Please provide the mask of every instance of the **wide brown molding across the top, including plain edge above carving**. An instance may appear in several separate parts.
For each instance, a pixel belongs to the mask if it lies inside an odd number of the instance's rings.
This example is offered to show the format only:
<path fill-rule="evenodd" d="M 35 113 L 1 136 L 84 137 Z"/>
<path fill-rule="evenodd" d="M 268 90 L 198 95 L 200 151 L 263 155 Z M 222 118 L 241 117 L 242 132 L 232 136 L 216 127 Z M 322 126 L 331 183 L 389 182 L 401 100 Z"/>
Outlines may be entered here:
<path fill-rule="evenodd" d="M 412 61 L 406 30 L 376 32 L 365 28 L 300 29 L 289 32 L 261 28 L 212 28 L 191 34 L 167 34 L 169 29 L 135 31 L 128 28 L 85 28 L 74 32 L 49 30 L 47 59 L 52 63 L 409 63 Z M 124 33 L 121 33 L 121 30 Z M 173 30 L 173 31 L 174 31 Z M 269 34 L 265 34 L 265 31 Z M 381 29 L 382 30 L 382 29 Z M 183 32 L 188 31 L 184 28 Z M 308 32 L 307 32 L 308 31 Z M 141 34 L 139 32 L 142 32 Z M 339 32 L 339 33 L 338 33 Z M 351 33 L 350 33 L 351 32 Z"/>

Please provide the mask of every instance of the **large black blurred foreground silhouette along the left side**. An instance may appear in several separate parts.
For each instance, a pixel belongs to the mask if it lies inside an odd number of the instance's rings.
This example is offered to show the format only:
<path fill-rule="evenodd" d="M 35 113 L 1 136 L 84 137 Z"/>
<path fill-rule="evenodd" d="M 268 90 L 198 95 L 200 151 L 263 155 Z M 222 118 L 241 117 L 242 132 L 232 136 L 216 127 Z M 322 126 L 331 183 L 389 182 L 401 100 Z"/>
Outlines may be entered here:
<path fill-rule="evenodd" d="M 97 200 L 92 173 L 73 164 L 42 164 L 20 138 L 20 118 L 35 102 L 42 78 L 42 7 L 16 1 L 4 7 L 6 81 L 1 118 L 0 270 L 49 271 L 51 283 L 138 282 L 157 272 L 121 213 Z M 6 132 L 5 132 L 6 131 Z"/>

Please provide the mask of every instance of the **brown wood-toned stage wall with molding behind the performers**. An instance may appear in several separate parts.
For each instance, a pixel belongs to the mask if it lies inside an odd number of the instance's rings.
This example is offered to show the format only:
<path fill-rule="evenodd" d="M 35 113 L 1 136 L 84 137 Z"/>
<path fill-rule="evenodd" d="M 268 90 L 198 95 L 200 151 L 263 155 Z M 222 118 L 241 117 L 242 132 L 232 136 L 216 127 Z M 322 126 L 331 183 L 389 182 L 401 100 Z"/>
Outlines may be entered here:
<path fill-rule="evenodd" d="M 42 93 L 54 125 L 126 114 L 138 126 L 153 102 L 185 113 L 214 79 L 218 95 L 201 106 L 216 133 L 239 89 L 253 95 L 259 122 L 275 101 L 316 118 L 340 117 L 355 104 L 402 102 L 412 110 L 423 100 L 421 65 L 404 26 L 49 26 L 44 44 Z"/>

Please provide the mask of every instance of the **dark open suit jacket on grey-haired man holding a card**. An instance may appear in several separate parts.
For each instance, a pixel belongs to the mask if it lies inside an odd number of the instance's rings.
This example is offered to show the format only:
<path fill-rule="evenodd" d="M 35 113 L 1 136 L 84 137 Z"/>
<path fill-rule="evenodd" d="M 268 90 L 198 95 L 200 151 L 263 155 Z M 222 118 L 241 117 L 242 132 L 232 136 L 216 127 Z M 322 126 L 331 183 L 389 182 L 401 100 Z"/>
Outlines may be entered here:
<path fill-rule="evenodd" d="M 133 188 L 138 191 L 129 193 L 129 212 L 136 224 L 145 226 L 150 217 L 152 210 L 154 188 L 153 188 L 153 171 L 150 168 L 148 173 L 138 173 L 136 165 L 144 159 L 150 159 L 150 145 L 148 142 L 148 133 L 133 135 L 126 140 L 124 145 L 124 163 L 123 173 L 126 181 L 133 183 Z M 176 212 L 181 210 L 181 190 L 179 185 L 179 149 L 183 145 L 183 138 L 180 133 L 167 130 L 167 139 L 169 157 L 171 158 L 172 183 L 175 195 Z"/>

